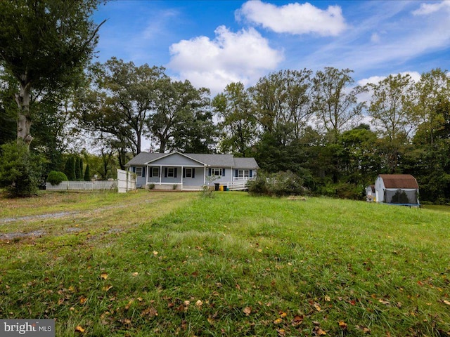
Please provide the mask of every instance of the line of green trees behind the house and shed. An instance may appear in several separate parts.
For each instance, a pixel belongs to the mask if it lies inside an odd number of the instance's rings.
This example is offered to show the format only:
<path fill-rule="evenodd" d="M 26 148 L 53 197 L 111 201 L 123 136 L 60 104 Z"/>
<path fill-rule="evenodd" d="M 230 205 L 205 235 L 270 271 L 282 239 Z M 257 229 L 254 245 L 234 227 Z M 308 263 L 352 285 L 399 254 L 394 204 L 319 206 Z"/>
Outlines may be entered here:
<path fill-rule="evenodd" d="M 255 157 L 262 171 L 293 173 L 311 193 L 354 199 L 380 173 L 411 173 L 422 201 L 450 202 L 446 70 L 365 86 L 349 69 L 281 70 L 212 97 L 163 67 L 91 62 L 96 6 L 0 3 L 8 14 L 0 18 L 0 181 L 21 186 L 18 194 L 64 171 L 72 154 L 111 178 L 150 150 Z"/>

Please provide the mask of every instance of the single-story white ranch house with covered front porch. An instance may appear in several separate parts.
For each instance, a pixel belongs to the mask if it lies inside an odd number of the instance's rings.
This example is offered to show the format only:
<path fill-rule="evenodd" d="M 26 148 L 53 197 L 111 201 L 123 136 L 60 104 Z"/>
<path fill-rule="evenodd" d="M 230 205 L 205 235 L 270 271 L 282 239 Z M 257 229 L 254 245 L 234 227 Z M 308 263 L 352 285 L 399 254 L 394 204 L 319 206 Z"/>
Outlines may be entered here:
<path fill-rule="evenodd" d="M 201 190 L 204 185 L 214 184 L 229 189 L 243 187 L 259 169 L 255 158 L 181 152 L 141 152 L 125 166 L 136 173 L 138 187 L 154 185 L 160 190 Z"/>

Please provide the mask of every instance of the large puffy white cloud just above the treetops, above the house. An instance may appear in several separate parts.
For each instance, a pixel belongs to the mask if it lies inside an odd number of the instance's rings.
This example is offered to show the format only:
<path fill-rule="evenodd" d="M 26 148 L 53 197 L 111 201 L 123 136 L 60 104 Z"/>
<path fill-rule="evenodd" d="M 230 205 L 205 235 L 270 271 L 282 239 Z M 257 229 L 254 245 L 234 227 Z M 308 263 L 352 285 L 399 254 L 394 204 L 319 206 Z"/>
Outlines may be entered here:
<path fill-rule="evenodd" d="M 202 36 L 172 44 L 168 67 L 194 86 L 217 93 L 231 81 L 253 84 L 283 60 L 283 52 L 271 48 L 255 29 L 234 33 L 219 26 L 214 33 L 214 39 Z"/>

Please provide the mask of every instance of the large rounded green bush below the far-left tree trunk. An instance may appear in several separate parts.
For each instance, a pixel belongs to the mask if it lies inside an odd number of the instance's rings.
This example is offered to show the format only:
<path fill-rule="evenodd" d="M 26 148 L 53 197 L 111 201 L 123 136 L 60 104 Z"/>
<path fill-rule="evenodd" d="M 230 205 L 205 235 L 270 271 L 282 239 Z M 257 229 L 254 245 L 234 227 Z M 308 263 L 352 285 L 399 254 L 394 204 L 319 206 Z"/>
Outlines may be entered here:
<path fill-rule="evenodd" d="M 29 152 L 23 142 L 0 147 L 0 185 L 11 197 L 32 197 L 42 183 L 44 159 Z"/>

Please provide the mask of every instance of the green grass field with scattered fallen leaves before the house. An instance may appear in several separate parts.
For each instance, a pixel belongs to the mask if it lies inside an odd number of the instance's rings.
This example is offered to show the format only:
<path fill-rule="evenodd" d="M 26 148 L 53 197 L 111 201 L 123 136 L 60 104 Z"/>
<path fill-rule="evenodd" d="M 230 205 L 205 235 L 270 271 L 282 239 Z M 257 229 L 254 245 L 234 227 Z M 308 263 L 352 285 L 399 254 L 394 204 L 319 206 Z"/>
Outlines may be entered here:
<path fill-rule="evenodd" d="M 0 317 L 56 336 L 450 336 L 450 211 L 244 192 L 0 198 Z"/>

